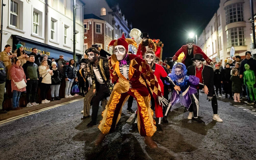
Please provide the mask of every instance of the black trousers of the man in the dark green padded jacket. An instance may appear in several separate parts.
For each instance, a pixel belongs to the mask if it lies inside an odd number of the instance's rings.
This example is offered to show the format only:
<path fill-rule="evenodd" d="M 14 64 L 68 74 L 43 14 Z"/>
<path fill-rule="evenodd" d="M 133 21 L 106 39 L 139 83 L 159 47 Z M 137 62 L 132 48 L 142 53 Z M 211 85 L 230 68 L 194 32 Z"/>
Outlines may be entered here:
<path fill-rule="evenodd" d="M 37 91 L 37 85 L 38 85 L 38 80 L 27 80 L 27 103 L 33 103 L 36 100 L 36 91 Z M 30 94 L 31 94 L 31 99 L 30 99 Z"/>

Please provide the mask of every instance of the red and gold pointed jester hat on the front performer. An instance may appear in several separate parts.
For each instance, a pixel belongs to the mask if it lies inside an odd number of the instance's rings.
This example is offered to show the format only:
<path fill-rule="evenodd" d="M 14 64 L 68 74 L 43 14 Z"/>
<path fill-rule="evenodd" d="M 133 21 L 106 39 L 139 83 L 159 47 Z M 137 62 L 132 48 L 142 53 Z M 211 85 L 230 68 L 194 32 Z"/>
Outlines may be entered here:
<path fill-rule="evenodd" d="M 131 38 L 125 38 L 124 37 L 124 32 L 123 32 L 123 35 L 122 35 L 121 38 L 114 39 L 114 40 L 112 40 L 109 43 L 108 50 L 109 50 L 110 46 L 114 46 L 115 47 L 115 46 L 118 46 L 118 45 L 124 46 L 126 52 L 128 52 L 128 45 L 133 45 L 133 46 L 135 46 L 138 49 L 138 46 L 137 46 L 135 40 L 133 40 Z"/>

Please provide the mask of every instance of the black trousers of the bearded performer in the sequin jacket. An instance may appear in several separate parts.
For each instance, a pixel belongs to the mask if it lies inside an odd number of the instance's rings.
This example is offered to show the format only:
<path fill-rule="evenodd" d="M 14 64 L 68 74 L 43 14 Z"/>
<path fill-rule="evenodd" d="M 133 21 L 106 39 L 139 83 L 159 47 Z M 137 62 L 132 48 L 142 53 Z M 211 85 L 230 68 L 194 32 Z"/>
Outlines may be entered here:
<path fill-rule="evenodd" d="M 99 111 L 100 101 L 108 96 L 108 89 L 105 84 L 100 84 L 99 90 L 96 95 L 92 98 L 92 123 L 97 124 L 97 115 Z"/>

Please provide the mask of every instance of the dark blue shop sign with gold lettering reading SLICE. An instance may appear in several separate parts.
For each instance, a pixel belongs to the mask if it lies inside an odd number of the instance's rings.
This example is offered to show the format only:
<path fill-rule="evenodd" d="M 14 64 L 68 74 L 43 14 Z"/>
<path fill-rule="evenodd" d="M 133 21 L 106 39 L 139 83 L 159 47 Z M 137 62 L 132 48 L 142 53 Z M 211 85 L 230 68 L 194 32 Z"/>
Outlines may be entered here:
<path fill-rule="evenodd" d="M 69 61 L 70 59 L 73 59 L 73 53 L 72 52 L 65 52 L 61 50 L 51 49 L 47 48 L 45 46 L 39 46 L 35 45 L 31 42 L 27 42 L 25 40 L 20 40 L 18 44 L 22 44 L 24 46 L 24 51 L 27 52 L 27 54 L 30 54 L 32 52 L 32 48 L 37 48 L 38 53 L 42 53 L 42 55 L 47 55 L 48 58 L 55 58 L 58 59 L 60 55 L 64 56 L 64 59 Z M 82 55 L 81 55 L 82 56 Z M 81 57 L 76 55 L 76 59 L 79 60 Z"/>

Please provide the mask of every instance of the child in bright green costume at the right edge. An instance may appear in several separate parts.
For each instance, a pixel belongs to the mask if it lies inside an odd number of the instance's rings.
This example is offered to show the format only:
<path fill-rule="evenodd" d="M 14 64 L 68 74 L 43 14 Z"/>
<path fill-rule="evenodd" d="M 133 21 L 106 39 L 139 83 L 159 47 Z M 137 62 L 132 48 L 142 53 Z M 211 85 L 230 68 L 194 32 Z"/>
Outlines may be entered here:
<path fill-rule="evenodd" d="M 256 100 L 256 87 L 255 74 L 253 70 L 250 70 L 250 66 L 246 63 L 244 65 L 246 71 L 243 72 L 244 85 L 247 85 L 251 101 Z"/>

